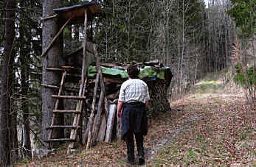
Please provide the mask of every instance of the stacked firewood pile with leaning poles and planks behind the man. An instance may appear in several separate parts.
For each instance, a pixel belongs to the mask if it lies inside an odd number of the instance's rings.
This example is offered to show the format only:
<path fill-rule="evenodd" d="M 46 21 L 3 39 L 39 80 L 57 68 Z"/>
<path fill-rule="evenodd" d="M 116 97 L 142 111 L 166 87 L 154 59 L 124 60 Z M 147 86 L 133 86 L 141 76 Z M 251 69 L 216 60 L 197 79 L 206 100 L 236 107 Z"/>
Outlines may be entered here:
<path fill-rule="evenodd" d="M 145 66 L 150 66 L 156 69 L 156 71 L 159 68 L 163 68 L 157 61 L 132 64 L 137 65 L 141 69 Z M 128 63 L 100 63 L 102 68 L 122 70 L 125 70 L 128 65 Z M 120 121 L 117 121 L 117 101 L 122 82 L 127 78 L 105 73 L 101 74 L 102 77 L 100 77 L 98 68 L 97 74 L 94 77 L 87 77 L 86 104 L 83 107 L 83 135 L 80 135 L 80 141 L 86 145 L 87 149 L 100 141 L 111 142 L 121 138 L 121 124 Z M 171 78 L 170 68 L 165 68 L 164 79 L 157 77 L 142 78 L 148 84 L 151 96 L 148 109 L 149 117 L 155 117 L 160 112 L 170 110 L 167 89 L 170 85 Z M 68 87 L 71 90 L 72 86 L 69 85 Z M 76 88 L 73 88 L 73 90 L 76 90 Z M 69 104 L 69 102 L 64 102 L 64 104 Z"/>

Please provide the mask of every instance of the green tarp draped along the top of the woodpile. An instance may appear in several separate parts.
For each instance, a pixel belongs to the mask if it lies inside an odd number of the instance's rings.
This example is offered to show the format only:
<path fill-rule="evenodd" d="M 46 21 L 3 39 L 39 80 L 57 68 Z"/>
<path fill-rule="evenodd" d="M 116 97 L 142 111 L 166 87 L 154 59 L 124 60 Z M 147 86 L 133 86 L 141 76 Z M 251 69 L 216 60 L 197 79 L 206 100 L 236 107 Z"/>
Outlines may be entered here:
<path fill-rule="evenodd" d="M 100 67 L 103 74 L 108 74 L 120 78 L 127 78 L 128 74 L 124 70 L 114 69 L 114 68 L 107 68 L 107 67 Z M 165 68 L 154 68 L 151 66 L 145 66 L 144 68 L 140 68 L 139 78 L 159 78 L 165 79 Z M 97 74 L 96 66 L 90 65 L 88 68 L 88 77 L 95 77 Z"/>

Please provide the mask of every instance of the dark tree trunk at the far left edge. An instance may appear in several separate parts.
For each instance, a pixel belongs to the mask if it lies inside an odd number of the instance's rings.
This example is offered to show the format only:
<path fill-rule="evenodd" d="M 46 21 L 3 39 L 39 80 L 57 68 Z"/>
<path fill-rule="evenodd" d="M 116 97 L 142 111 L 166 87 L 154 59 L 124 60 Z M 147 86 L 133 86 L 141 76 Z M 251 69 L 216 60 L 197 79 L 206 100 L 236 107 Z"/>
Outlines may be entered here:
<path fill-rule="evenodd" d="M 13 43 L 15 40 L 15 7 L 16 1 L 7 1 L 6 20 L 5 20 L 5 40 L 4 57 L 1 69 L 1 112 L 0 112 L 0 166 L 7 166 L 11 163 L 12 149 L 12 116 L 11 101 L 12 96 L 12 77 L 15 50 Z"/>

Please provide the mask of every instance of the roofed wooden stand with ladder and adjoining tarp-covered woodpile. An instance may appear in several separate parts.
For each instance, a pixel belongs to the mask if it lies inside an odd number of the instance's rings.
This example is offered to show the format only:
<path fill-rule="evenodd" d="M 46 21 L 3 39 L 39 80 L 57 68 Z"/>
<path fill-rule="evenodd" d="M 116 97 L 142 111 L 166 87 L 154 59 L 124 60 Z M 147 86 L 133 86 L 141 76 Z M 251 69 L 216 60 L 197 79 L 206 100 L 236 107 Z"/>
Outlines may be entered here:
<path fill-rule="evenodd" d="M 151 99 L 153 99 L 148 110 L 149 116 L 155 116 L 159 111 L 170 110 L 166 96 L 173 77 L 170 68 L 164 67 L 158 60 L 144 63 L 100 63 L 96 44 L 88 41 L 86 36 L 87 22 L 100 15 L 97 2 L 90 1 L 72 7 L 61 7 L 54 11 L 57 14 L 60 30 L 49 43 L 42 57 L 46 56 L 47 51 L 67 25 L 84 24 L 84 29 L 83 47 L 63 55 L 67 61 L 64 65 L 60 65 L 60 68 L 46 68 L 46 70 L 58 72 L 61 77 L 60 85 L 42 85 L 58 90 L 58 95 L 52 95 L 56 101 L 55 106 L 52 107 L 52 124 L 47 128 L 49 129 L 48 149 L 52 148 L 53 142 L 69 141 L 67 151 L 70 153 L 77 141 L 85 144 L 86 149 L 89 149 L 99 141 L 111 142 L 113 138 L 120 139 L 121 125 L 116 117 L 117 99 L 120 86 L 127 79 L 125 69 L 130 64 L 140 68 L 140 78 L 148 84 Z M 78 88 L 69 88 L 66 82 L 79 83 Z M 69 95 L 67 95 L 68 92 Z M 76 95 L 70 92 L 75 92 Z M 59 110 L 60 100 L 63 99 L 76 100 L 75 109 Z M 81 119 L 85 113 L 88 113 L 87 121 L 83 122 Z M 72 124 L 56 125 L 55 116 L 58 114 L 72 115 Z M 54 129 L 61 128 L 70 129 L 69 138 L 53 138 Z M 82 135 L 79 135 L 79 132 Z"/>

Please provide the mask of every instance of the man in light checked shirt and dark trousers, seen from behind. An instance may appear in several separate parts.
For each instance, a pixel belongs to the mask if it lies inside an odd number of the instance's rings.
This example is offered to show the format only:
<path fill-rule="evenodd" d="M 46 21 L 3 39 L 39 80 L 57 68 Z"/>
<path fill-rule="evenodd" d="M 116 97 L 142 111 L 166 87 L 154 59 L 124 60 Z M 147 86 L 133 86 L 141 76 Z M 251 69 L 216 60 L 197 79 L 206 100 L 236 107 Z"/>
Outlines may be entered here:
<path fill-rule="evenodd" d="M 128 80 L 122 83 L 117 105 L 117 118 L 122 113 L 122 139 L 127 146 L 126 163 L 135 164 L 134 161 L 134 135 L 139 156 L 139 165 L 145 163 L 143 135 L 148 133 L 146 108 L 149 102 L 148 86 L 138 79 L 139 70 L 135 65 L 127 68 Z M 123 109 L 123 110 L 122 110 Z"/>

